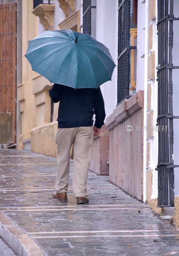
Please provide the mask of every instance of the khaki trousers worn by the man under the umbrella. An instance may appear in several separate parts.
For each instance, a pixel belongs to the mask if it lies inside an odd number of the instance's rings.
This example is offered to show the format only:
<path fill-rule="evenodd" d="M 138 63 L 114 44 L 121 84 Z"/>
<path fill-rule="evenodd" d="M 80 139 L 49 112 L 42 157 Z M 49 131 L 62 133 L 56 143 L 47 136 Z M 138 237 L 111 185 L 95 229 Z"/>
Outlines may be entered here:
<path fill-rule="evenodd" d="M 73 144 L 74 170 L 73 192 L 74 196 L 87 197 L 86 189 L 88 168 L 92 157 L 93 127 L 58 128 L 55 134 L 57 143 L 58 170 L 55 189 L 58 193 L 67 192 L 70 172 L 70 149 Z"/>

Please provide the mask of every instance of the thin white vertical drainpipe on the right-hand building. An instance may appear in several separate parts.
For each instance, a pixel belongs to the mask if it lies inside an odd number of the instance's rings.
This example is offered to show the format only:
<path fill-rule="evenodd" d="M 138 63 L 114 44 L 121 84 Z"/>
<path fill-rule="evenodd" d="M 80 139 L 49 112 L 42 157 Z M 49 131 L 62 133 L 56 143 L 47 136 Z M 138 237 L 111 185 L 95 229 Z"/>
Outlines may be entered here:
<path fill-rule="evenodd" d="M 147 85 L 148 85 L 148 16 L 149 0 L 145 1 L 145 55 L 144 55 L 144 127 L 147 127 Z M 144 129 L 143 147 L 143 201 L 146 201 L 146 170 L 147 170 L 147 128 Z"/>

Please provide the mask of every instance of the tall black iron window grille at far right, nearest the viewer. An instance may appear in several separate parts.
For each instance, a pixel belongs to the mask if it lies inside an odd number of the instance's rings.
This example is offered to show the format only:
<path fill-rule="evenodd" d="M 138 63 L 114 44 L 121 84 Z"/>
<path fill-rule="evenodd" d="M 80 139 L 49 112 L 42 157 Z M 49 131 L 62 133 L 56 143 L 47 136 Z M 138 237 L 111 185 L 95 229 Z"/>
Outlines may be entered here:
<path fill-rule="evenodd" d="M 179 116 L 173 115 L 173 21 L 179 18 L 173 15 L 173 0 L 158 0 L 158 117 L 157 125 L 168 127 L 166 132 L 158 129 L 158 206 L 174 206 L 174 165 L 173 143 L 174 130 L 173 119 Z M 169 14 L 168 14 L 169 12 Z M 169 33 L 168 33 L 169 22 Z"/>

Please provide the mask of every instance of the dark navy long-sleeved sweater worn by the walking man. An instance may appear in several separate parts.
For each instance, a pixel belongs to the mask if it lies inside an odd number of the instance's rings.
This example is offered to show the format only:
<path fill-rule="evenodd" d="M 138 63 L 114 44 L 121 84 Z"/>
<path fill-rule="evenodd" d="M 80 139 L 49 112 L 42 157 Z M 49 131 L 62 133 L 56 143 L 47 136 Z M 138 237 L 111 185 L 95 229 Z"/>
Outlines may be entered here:
<path fill-rule="evenodd" d="M 100 88 L 74 89 L 62 84 L 54 84 L 49 90 L 58 107 L 58 128 L 92 126 L 93 115 L 96 115 L 95 126 L 101 128 L 105 119 L 104 100 Z"/>

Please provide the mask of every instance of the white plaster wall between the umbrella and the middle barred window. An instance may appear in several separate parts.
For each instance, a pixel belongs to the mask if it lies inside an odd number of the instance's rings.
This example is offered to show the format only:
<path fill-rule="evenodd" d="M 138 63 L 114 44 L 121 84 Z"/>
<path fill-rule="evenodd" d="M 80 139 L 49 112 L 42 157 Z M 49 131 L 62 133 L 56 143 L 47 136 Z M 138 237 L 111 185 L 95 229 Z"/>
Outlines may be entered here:
<path fill-rule="evenodd" d="M 117 65 L 117 0 L 96 1 L 96 39 L 104 44 L 110 51 Z M 101 91 L 105 101 L 106 117 L 113 113 L 117 104 L 117 68 L 115 68 L 112 81 L 101 85 Z"/>

